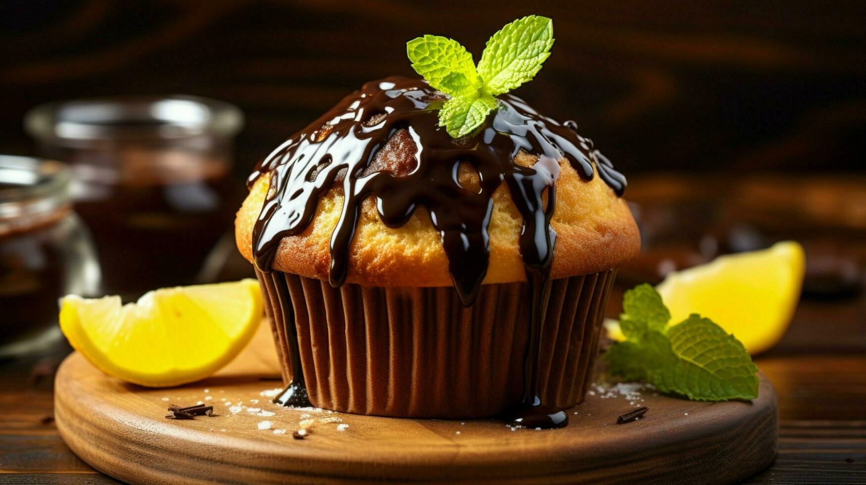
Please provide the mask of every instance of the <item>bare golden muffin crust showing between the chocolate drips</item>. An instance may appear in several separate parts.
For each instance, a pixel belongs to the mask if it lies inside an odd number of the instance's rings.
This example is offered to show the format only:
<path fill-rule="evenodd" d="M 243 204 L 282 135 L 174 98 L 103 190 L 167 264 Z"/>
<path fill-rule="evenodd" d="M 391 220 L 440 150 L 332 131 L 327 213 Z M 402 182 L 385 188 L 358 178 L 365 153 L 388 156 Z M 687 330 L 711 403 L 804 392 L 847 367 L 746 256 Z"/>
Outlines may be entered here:
<path fill-rule="evenodd" d="M 536 156 L 520 153 L 515 162 L 531 166 Z M 589 181 L 578 176 L 562 158 L 557 204 L 551 225 L 557 233 L 553 251 L 553 279 L 598 273 L 630 261 L 640 250 L 637 224 L 628 204 L 617 197 L 598 175 Z M 473 179 L 475 178 L 475 180 Z M 461 185 L 470 188 L 477 174 L 460 171 Z M 270 176 L 259 177 L 236 216 L 235 237 L 241 254 L 252 261 L 252 233 L 268 192 Z M 526 281 L 520 256 L 522 218 L 506 184 L 494 192 L 494 210 L 488 227 L 490 260 L 484 283 Z M 295 236 L 281 240 L 273 269 L 295 275 L 328 279 L 329 243 L 343 205 L 342 189 L 320 197 L 313 222 Z M 378 217 L 373 198 L 364 201 L 349 249 L 346 281 L 378 287 L 443 287 L 452 284 L 439 233 L 427 210 L 419 208 L 409 222 L 389 228 Z"/>

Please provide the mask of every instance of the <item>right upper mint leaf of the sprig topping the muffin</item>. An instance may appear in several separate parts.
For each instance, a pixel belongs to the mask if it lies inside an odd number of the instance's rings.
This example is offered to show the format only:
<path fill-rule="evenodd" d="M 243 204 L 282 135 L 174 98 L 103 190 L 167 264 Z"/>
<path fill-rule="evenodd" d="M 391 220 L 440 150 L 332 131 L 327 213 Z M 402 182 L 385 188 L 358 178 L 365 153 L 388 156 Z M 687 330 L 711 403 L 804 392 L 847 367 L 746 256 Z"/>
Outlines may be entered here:
<path fill-rule="evenodd" d="M 478 61 L 484 90 L 495 96 L 531 80 L 550 55 L 551 46 L 551 19 L 525 16 L 507 24 L 490 37 Z"/>

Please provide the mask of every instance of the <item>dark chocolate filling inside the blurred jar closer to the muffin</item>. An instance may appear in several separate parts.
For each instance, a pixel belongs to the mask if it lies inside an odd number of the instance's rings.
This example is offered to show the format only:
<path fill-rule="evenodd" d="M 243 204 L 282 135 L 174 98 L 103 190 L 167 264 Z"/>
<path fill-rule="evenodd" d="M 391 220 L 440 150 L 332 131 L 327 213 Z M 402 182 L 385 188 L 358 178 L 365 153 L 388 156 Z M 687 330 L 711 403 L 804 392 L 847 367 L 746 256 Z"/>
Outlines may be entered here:
<path fill-rule="evenodd" d="M 140 146 L 115 157 L 120 170 L 90 164 L 87 152 L 72 158 L 75 207 L 94 234 L 105 292 L 197 282 L 233 220 L 229 161 Z"/>

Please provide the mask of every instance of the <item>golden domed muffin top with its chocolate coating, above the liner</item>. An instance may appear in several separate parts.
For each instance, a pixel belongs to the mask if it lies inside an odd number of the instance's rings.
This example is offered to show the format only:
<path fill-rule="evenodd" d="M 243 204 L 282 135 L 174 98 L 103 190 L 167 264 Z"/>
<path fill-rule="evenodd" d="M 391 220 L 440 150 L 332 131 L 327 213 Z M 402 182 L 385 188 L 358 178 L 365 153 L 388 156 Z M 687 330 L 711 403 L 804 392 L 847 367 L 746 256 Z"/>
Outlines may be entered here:
<path fill-rule="evenodd" d="M 426 82 L 372 81 L 288 139 L 250 178 L 236 241 L 262 271 L 365 286 L 604 271 L 637 255 L 625 178 L 576 126 L 503 94 L 473 133 L 438 126 Z"/>

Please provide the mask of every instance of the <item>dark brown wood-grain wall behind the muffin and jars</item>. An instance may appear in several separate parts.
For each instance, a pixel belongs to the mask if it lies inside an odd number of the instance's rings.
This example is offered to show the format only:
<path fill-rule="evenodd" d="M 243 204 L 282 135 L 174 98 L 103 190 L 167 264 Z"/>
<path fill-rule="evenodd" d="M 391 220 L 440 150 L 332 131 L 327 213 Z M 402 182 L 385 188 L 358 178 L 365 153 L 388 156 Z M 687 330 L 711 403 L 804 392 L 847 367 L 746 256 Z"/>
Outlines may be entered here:
<path fill-rule="evenodd" d="M 866 3 L 4 0 L 0 152 L 48 100 L 198 94 L 247 114 L 238 173 L 371 79 L 414 74 L 405 42 L 477 60 L 514 18 L 554 22 L 518 94 L 573 119 L 627 174 L 863 169 Z"/>

